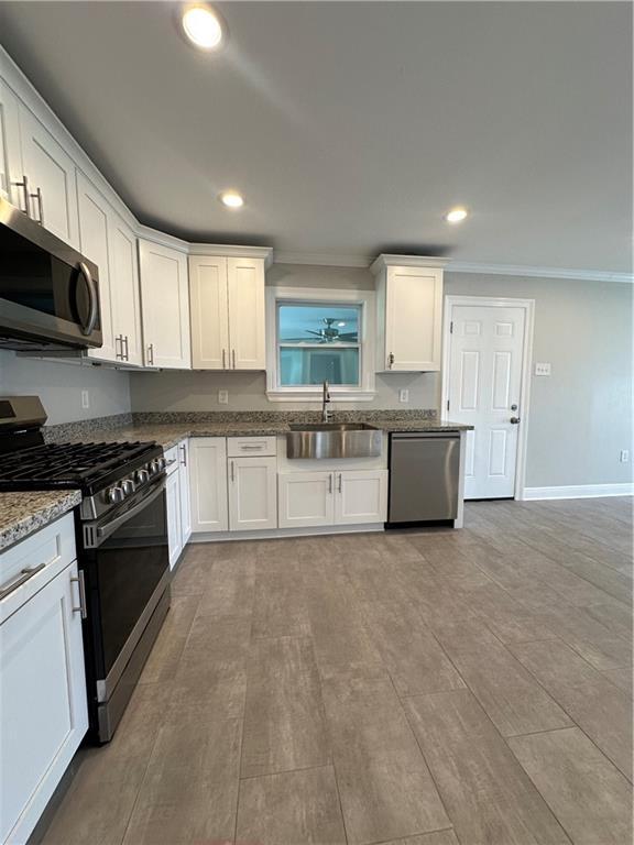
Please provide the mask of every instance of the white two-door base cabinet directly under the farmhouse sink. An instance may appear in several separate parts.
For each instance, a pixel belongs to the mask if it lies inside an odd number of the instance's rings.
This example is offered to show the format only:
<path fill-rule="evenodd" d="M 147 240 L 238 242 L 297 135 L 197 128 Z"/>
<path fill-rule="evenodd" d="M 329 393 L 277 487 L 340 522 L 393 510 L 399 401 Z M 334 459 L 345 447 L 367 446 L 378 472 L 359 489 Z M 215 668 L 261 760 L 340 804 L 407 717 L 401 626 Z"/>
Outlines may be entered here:
<path fill-rule="evenodd" d="M 278 476 L 280 527 L 384 523 L 387 470 L 289 472 Z"/>

